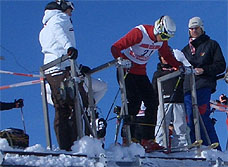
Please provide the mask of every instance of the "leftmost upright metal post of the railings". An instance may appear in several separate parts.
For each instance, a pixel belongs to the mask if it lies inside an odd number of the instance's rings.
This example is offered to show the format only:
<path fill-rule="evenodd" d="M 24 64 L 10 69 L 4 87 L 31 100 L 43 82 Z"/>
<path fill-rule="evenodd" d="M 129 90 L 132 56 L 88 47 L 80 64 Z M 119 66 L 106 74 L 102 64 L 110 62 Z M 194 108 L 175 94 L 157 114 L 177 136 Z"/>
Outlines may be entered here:
<path fill-rule="evenodd" d="M 40 75 L 42 76 L 42 78 L 44 78 L 44 72 L 43 72 L 43 70 L 41 68 L 40 68 Z M 40 84 L 41 84 L 41 93 L 42 93 L 42 103 L 43 103 L 43 114 L 44 114 L 46 144 L 47 144 L 47 147 L 52 150 L 51 131 L 50 131 L 50 121 L 49 121 L 49 114 L 48 114 L 45 79 L 41 80 Z"/>

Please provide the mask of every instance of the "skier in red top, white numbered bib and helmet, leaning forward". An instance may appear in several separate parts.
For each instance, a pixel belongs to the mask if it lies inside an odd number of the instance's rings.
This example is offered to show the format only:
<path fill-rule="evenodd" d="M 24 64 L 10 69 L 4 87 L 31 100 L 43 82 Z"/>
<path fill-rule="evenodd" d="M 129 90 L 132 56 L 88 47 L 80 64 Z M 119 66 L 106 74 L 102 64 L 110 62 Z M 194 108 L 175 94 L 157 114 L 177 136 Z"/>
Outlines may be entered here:
<path fill-rule="evenodd" d="M 146 107 L 145 122 L 156 124 L 157 107 L 153 105 L 154 92 L 146 74 L 146 64 L 150 56 L 158 50 L 162 57 L 172 66 L 178 68 L 181 63 L 171 54 L 168 48 L 168 40 L 174 36 L 176 25 L 169 16 L 162 16 L 152 25 L 139 25 L 128 32 L 123 38 L 115 42 L 111 47 L 114 58 L 119 57 L 131 62 L 125 78 L 128 110 L 133 123 L 143 101 Z M 155 127 L 144 127 L 141 145 L 147 152 L 161 147 L 155 142 Z M 135 125 L 130 125 L 132 139 L 135 136 Z"/>

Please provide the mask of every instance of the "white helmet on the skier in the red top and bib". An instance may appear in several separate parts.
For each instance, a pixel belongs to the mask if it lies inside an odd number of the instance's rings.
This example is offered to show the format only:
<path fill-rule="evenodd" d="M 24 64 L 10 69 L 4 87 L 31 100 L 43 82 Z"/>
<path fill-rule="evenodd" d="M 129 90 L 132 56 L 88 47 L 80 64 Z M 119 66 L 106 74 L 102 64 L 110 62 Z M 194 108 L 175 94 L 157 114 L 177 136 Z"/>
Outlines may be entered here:
<path fill-rule="evenodd" d="M 166 35 L 168 38 L 173 37 L 176 32 L 176 24 L 169 16 L 162 16 L 154 24 L 154 35 Z"/>

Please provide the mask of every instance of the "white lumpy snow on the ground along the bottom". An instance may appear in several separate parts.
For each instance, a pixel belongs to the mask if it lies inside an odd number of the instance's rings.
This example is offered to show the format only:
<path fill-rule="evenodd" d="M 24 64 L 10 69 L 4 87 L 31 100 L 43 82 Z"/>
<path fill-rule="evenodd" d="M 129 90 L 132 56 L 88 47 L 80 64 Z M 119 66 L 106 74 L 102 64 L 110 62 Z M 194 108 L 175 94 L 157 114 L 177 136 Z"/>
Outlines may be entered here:
<path fill-rule="evenodd" d="M 6 154 L 4 156 L 4 164 L 13 164 L 13 165 L 27 165 L 27 166 L 42 166 L 42 167 L 59 167 L 59 166 L 86 166 L 86 167 L 105 167 L 107 165 L 107 161 L 120 161 L 127 163 L 135 161 L 136 157 L 144 157 L 143 166 L 172 166 L 176 165 L 181 166 L 180 160 L 177 159 L 160 159 L 159 157 L 179 157 L 179 158 L 206 158 L 207 161 L 226 161 L 228 162 L 228 151 L 221 152 L 217 150 L 203 150 L 199 155 L 192 152 L 179 152 L 172 154 L 164 154 L 161 152 L 153 152 L 150 154 L 145 153 L 143 147 L 139 144 L 133 143 L 129 147 L 122 147 L 120 145 L 111 145 L 108 149 L 102 148 L 102 141 L 98 139 L 94 139 L 88 136 L 84 136 L 81 140 L 74 142 L 72 146 L 71 152 L 66 152 L 63 150 L 59 150 L 58 147 L 53 147 L 53 151 L 50 151 L 46 148 L 43 148 L 40 144 L 36 144 L 34 146 L 28 147 L 25 150 L 21 149 L 13 149 L 9 146 L 6 139 L 0 138 L 0 150 L 2 151 L 24 151 L 24 152 L 43 152 L 43 153 L 61 153 L 59 156 L 20 156 L 17 154 Z M 202 149 L 206 148 L 202 146 Z M 65 155 L 64 153 L 71 154 L 83 154 L 86 156 L 70 156 Z M 147 157 L 155 157 L 155 159 L 151 160 Z M 3 155 L 0 155 L 0 164 L 3 161 Z M 189 163 L 188 163 L 189 162 Z M 198 162 L 185 160 L 185 167 L 193 167 L 193 166 L 203 166 L 205 167 L 206 162 Z M 222 166 L 220 163 L 215 164 L 213 167 Z M 222 163 L 221 163 L 222 164 Z"/>

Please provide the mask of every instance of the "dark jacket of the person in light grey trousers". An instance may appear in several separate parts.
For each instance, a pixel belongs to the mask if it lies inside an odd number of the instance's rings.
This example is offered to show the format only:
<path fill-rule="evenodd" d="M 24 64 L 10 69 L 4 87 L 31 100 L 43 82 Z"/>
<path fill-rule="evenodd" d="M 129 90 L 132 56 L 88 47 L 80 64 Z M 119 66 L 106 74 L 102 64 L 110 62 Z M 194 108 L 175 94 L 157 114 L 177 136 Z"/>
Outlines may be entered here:
<path fill-rule="evenodd" d="M 158 63 L 157 71 L 154 72 L 154 75 L 152 78 L 152 86 L 153 86 L 154 92 L 156 93 L 156 97 L 158 97 L 157 78 L 170 74 L 172 72 L 174 72 L 174 70 L 170 65 Z M 175 77 L 163 82 L 162 86 L 163 86 L 164 103 L 183 103 L 184 102 L 183 80 L 180 81 L 174 93 L 174 89 L 177 84 L 178 78 L 179 77 Z"/>

